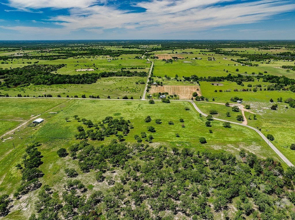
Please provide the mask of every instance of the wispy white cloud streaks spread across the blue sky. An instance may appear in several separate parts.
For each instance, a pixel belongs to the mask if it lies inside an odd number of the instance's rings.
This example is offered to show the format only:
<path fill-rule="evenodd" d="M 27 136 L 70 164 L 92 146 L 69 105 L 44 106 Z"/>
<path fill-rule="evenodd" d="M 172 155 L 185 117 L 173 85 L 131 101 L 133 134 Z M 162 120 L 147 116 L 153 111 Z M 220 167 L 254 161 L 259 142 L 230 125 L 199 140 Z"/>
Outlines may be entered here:
<path fill-rule="evenodd" d="M 224 2 L 228 4 L 221 6 Z M 185 34 L 209 29 L 224 31 L 228 29 L 222 27 L 228 25 L 251 24 L 295 9 L 295 4 L 291 1 L 279 0 L 239 4 L 232 0 L 153 0 L 134 4 L 146 9 L 141 13 L 119 10 L 114 5 L 97 5 L 95 0 L 9 0 L 9 5 L 28 11 L 45 7 L 68 9 L 69 15 L 53 16 L 47 20 L 60 27 L 52 28 L 53 32 L 58 30 L 60 34 L 79 30 L 102 34 L 116 30 L 116 34 L 128 32 L 130 36 L 176 32 Z M 22 31 L 19 27 L 16 29 Z M 47 30 L 34 28 L 31 30 Z"/>

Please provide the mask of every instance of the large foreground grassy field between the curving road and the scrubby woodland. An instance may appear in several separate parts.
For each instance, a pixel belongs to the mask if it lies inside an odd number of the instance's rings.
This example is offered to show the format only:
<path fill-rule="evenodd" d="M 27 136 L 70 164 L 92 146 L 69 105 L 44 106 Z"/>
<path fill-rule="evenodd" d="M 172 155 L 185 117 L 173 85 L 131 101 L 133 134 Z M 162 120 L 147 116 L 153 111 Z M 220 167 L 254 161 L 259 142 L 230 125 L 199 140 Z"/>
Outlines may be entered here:
<path fill-rule="evenodd" d="M 3 100 L 3 101 L 2 101 Z M 11 100 L 10 102 L 6 100 Z M 6 110 L 2 112 L 13 111 L 30 112 L 30 110 L 24 110 L 22 106 L 30 106 L 31 111 L 41 113 L 47 109 L 52 108 L 54 105 L 59 104 L 58 101 L 65 101 L 63 99 L 0 99 L 1 106 L 5 106 Z M 50 103 L 51 106 L 46 105 L 45 109 L 42 108 L 42 101 Z M 14 105 L 10 104 L 11 102 Z M 35 103 L 34 103 L 35 102 Z M 207 103 L 205 103 L 206 105 Z M 212 104 L 213 105 L 213 104 Z M 191 110 L 187 111 L 184 108 L 189 107 Z M 222 108 L 223 106 L 219 106 Z M 224 106 L 225 107 L 225 106 Z M 160 111 L 159 111 L 160 110 Z M 107 101 L 107 100 L 70 100 L 62 105 L 62 111 L 60 107 L 55 107 L 51 111 L 58 112 L 58 114 L 42 114 L 40 117 L 44 118 L 43 126 L 41 124 L 34 128 L 27 127 L 21 129 L 13 139 L 0 142 L 0 176 L 2 176 L 0 183 L 0 190 L 5 191 L 8 194 L 12 194 L 15 187 L 18 186 L 21 175 L 20 171 L 15 168 L 15 165 L 21 161 L 21 156 L 24 154 L 24 149 L 28 143 L 33 141 L 39 141 L 42 143 L 38 149 L 41 151 L 44 162 L 40 169 L 44 172 L 44 176 L 40 178 L 42 184 L 49 184 L 55 191 L 59 191 L 62 184 L 66 180 L 64 167 L 74 167 L 79 174 L 82 174 L 78 169 L 77 161 L 72 161 L 71 158 L 59 158 L 56 154 L 57 149 L 60 147 L 68 147 L 77 142 L 74 138 L 74 134 L 77 133 L 76 126 L 82 125 L 82 122 L 78 122 L 73 118 L 73 115 L 77 114 L 80 118 L 91 119 L 94 123 L 101 121 L 106 116 L 113 116 L 115 118 L 124 117 L 129 119 L 133 125 L 133 129 L 125 136 L 127 142 L 135 142 L 134 135 L 140 135 L 141 131 L 145 131 L 147 134 L 152 134 L 154 139 L 152 146 L 166 145 L 190 147 L 195 151 L 209 150 L 225 150 L 237 154 L 240 149 L 246 149 L 258 155 L 258 157 L 266 158 L 272 156 L 278 161 L 281 161 L 278 156 L 272 151 L 271 148 L 267 148 L 267 144 L 262 141 L 260 136 L 251 129 L 245 129 L 238 125 L 232 125 L 232 128 L 226 129 L 222 126 L 221 122 L 214 121 L 212 127 L 206 127 L 204 117 L 199 117 L 199 114 L 193 109 L 188 102 L 171 102 L 165 104 L 162 102 L 156 102 L 155 104 L 148 104 L 148 101 Z M 2 113 L 3 114 L 3 113 Z M 146 116 L 150 115 L 152 121 L 149 123 L 144 122 Z M 16 116 L 17 117 L 17 116 Z M 65 121 L 65 117 L 69 117 L 69 121 Z M 181 126 L 180 118 L 184 119 Z M 162 124 L 156 124 L 155 119 L 161 119 Z M 168 121 L 173 121 L 173 125 L 168 125 Z M 154 126 L 156 132 L 151 133 L 147 131 L 147 126 Z M 84 126 L 87 130 L 87 128 Z M 209 133 L 209 129 L 212 129 L 213 133 Z M 176 133 L 180 137 L 176 137 Z M 200 144 L 199 137 L 204 136 L 207 139 L 207 144 Z M 237 139 L 239 136 L 239 139 Z M 89 141 L 94 146 L 100 144 L 109 143 L 115 136 L 106 137 L 104 141 Z M 13 149 L 13 144 L 16 149 Z M 292 161 L 293 160 L 293 161 Z M 294 162 L 294 158 L 291 158 Z M 283 164 L 286 167 L 285 164 Z M 92 171 L 88 174 L 79 175 L 78 179 L 83 179 L 83 183 L 87 186 L 95 183 L 94 175 Z M 96 188 L 94 189 L 97 189 Z M 89 190 L 91 192 L 91 190 Z M 28 213 L 32 211 L 32 204 L 35 201 L 35 195 L 37 191 L 33 191 L 27 196 L 24 196 L 21 200 L 16 201 L 15 208 L 11 209 L 4 219 L 26 219 L 24 213 L 28 216 Z M 26 204 L 24 206 L 24 204 Z M 14 210 L 26 210 L 16 211 Z"/>

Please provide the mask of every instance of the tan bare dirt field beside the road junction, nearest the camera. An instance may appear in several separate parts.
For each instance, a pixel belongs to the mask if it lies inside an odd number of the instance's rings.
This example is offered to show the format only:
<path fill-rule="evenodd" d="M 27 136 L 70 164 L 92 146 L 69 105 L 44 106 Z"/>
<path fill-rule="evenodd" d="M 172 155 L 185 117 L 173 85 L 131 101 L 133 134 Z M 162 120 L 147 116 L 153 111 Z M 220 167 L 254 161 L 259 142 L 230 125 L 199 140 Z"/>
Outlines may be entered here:
<path fill-rule="evenodd" d="M 199 91 L 197 91 L 199 89 Z M 197 92 L 201 96 L 201 89 L 199 86 L 152 86 L 150 94 L 158 92 L 168 92 L 169 95 L 179 95 L 179 99 L 191 99 L 193 92 Z"/>

